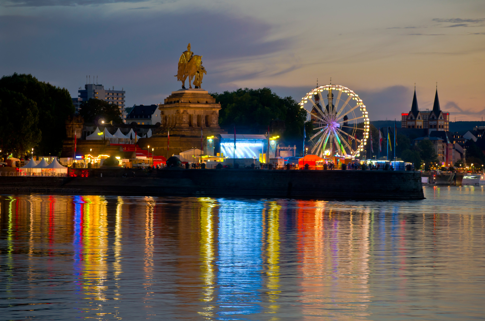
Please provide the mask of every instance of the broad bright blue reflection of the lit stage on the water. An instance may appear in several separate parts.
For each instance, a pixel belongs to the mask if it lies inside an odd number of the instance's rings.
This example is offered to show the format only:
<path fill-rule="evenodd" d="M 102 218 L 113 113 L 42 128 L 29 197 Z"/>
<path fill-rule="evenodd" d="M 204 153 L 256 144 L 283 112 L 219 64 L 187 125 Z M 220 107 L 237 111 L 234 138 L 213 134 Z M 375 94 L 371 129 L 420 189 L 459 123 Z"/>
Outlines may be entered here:
<path fill-rule="evenodd" d="M 219 315 L 261 311 L 263 202 L 222 200 L 219 208 Z M 220 318 L 225 319 L 225 318 Z"/>

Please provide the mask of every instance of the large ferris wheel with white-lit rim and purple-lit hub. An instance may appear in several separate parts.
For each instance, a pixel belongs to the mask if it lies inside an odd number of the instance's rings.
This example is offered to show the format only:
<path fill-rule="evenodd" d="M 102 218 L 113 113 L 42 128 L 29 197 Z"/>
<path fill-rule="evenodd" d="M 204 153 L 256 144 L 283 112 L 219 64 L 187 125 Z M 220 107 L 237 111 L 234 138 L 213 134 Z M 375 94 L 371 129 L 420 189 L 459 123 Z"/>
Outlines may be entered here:
<path fill-rule="evenodd" d="M 300 108 L 307 111 L 307 121 L 313 123 L 314 131 L 308 133 L 311 154 L 355 158 L 364 151 L 369 115 L 354 91 L 339 85 L 320 86 L 302 98 Z M 362 122 L 363 126 L 358 126 Z"/>

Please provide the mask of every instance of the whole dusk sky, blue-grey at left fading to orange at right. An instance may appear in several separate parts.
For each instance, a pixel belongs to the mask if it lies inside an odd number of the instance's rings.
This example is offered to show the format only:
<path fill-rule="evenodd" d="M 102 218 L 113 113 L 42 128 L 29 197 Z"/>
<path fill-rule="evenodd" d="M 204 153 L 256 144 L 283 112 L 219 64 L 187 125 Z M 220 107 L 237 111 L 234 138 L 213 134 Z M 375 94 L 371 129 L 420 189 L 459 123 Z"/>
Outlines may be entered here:
<path fill-rule="evenodd" d="M 437 82 L 452 121 L 485 115 L 484 0 L 0 0 L 0 15 L 0 75 L 73 97 L 90 75 L 123 87 L 127 106 L 162 102 L 190 42 L 209 92 L 269 87 L 299 101 L 331 77 L 384 120 L 410 110 L 414 83 L 431 109 Z"/>

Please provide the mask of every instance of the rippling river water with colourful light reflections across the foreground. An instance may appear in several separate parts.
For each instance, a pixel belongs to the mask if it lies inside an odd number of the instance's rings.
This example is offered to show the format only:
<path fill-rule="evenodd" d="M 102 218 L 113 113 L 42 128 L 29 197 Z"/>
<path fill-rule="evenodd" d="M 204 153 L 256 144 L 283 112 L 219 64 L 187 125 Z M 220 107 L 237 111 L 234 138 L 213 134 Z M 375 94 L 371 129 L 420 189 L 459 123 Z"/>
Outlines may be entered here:
<path fill-rule="evenodd" d="M 484 320 L 484 187 L 0 195 L 0 320 Z"/>

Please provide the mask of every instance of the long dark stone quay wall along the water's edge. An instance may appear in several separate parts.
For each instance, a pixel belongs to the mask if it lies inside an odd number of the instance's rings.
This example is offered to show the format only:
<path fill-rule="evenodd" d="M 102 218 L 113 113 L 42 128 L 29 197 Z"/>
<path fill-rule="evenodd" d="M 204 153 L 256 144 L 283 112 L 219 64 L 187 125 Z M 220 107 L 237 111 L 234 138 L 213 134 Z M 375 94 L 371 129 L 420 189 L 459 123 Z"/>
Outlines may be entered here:
<path fill-rule="evenodd" d="M 120 173 L 106 170 L 103 177 L 0 177 L 0 193 L 372 200 L 424 198 L 421 175 L 417 171 L 164 168 L 149 177 L 120 177 Z"/>

